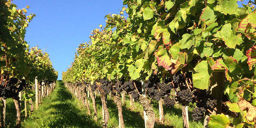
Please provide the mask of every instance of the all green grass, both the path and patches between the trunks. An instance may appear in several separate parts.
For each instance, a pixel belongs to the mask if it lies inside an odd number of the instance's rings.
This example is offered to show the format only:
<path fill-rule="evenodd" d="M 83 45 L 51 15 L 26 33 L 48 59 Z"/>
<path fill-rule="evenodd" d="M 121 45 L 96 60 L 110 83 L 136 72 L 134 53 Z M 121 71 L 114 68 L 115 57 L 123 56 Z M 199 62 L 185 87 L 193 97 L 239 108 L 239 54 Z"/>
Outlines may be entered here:
<path fill-rule="evenodd" d="M 102 104 L 100 97 L 96 96 L 96 104 L 98 111 L 98 121 L 93 120 L 92 100 L 90 100 L 91 116 L 87 116 L 87 109 L 78 101 L 70 91 L 66 89 L 62 81 L 57 81 L 56 89 L 49 97 L 42 101 L 42 105 L 38 110 L 31 113 L 27 118 L 24 117 L 24 112 L 21 115 L 22 127 L 24 128 L 98 128 L 102 122 Z M 126 95 L 126 100 L 123 106 L 123 118 L 126 128 L 143 128 L 143 107 L 137 101 L 134 102 L 135 108 L 130 106 L 130 99 Z M 34 100 L 33 100 L 34 101 Z M 181 113 L 181 105 L 176 104 L 173 108 L 164 108 L 164 124 L 159 123 L 158 102 L 151 102 L 155 115 L 155 128 L 180 128 L 183 127 L 183 119 Z M 118 110 L 112 99 L 107 98 L 109 111 L 108 128 L 118 128 Z M 6 106 L 6 123 L 9 127 L 14 127 L 16 122 L 16 111 L 12 99 L 7 99 Z M 24 104 L 22 105 L 24 107 Z M 192 121 L 192 110 L 194 104 L 189 104 L 189 126 L 192 128 L 203 127 L 203 121 Z M 29 110 L 29 105 L 28 105 Z"/>

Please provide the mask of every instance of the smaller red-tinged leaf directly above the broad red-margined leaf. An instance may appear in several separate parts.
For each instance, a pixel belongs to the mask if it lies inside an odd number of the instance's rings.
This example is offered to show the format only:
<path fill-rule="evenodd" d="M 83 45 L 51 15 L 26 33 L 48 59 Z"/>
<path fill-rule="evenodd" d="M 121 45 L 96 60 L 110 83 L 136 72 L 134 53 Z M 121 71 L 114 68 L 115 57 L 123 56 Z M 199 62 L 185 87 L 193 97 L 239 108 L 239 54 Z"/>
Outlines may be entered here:
<path fill-rule="evenodd" d="M 171 44 L 170 42 L 170 33 L 167 28 L 156 26 L 156 31 L 154 37 L 156 38 L 157 42 L 160 41 L 161 37 L 163 38 L 164 45 Z"/>

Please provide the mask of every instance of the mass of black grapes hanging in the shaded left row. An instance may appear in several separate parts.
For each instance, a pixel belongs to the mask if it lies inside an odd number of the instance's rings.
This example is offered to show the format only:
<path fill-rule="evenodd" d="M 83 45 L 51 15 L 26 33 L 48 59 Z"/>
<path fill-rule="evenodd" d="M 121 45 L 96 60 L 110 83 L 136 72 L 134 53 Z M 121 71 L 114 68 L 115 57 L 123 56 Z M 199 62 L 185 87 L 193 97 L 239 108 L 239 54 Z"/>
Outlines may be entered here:
<path fill-rule="evenodd" d="M 16 84 L 18 84 L 16 86 Z M 0 86 L 0 97 L 3 99 L 14 98 L 19 99 L 19 92 L 28 87 L 26 80 L 22 79 L 18 82 L 17 78 L 10 78 L 6 83 L 2 82 Z"/>

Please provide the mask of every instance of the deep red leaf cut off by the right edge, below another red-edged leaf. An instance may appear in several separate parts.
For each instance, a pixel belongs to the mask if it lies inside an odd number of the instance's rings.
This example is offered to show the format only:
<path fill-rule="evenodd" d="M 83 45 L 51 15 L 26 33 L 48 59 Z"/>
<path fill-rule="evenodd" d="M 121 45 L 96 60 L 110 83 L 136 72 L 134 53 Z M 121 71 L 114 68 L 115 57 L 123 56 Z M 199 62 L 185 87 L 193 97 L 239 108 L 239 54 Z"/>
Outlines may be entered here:
<path fill-rule="evenodd" d="M 256 45 L 246 52 L 246 56 L 248 58 L 247 64 L 249 65 L 249 70 L 252 70 L 252 66 L 256 63 Z"/>

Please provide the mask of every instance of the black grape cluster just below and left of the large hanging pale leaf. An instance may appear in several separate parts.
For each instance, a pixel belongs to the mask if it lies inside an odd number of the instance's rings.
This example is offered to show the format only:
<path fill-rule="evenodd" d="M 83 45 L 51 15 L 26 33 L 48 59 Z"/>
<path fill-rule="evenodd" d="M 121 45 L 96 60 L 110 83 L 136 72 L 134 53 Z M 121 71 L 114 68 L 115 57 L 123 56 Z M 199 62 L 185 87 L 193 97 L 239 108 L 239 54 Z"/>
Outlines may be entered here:
<path fill-rule="evenodd" d="M 189 88 L 186 90 L 180 90 L 177 92 L 177 99 L 185 100 L 186 102 L 193 101 L 193 92 L 190 92 Z"/>

